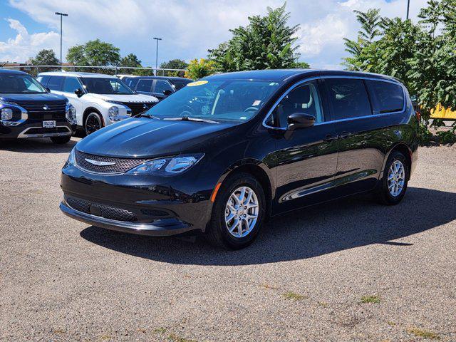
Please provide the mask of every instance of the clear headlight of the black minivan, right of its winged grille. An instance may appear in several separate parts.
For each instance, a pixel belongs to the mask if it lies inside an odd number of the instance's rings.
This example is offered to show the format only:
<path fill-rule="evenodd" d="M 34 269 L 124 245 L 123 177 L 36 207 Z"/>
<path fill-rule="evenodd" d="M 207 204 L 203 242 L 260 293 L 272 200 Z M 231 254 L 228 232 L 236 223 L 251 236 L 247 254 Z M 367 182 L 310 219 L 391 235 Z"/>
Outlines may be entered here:
<path fill-rule="evenodd" d="M 204 157 L 204 153 L 149 160 L 128 171 L 128 173 L 135 175 L 176 175 L 190 169 L 202 157 Z"/>

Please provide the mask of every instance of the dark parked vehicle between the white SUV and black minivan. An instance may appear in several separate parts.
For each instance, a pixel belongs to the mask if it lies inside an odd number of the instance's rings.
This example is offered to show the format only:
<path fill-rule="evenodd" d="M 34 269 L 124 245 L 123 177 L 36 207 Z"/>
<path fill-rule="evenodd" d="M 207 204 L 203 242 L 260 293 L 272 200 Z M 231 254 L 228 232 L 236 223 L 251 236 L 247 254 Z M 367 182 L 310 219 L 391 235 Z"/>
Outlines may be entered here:
<path fill-rule="evenodd" d="M 182 77 L 141 76 L 125 78 L 125 83 L 138 93 L 152 95 L 159 100 L 175 93 L 191 82 L 193 80 Z"/>

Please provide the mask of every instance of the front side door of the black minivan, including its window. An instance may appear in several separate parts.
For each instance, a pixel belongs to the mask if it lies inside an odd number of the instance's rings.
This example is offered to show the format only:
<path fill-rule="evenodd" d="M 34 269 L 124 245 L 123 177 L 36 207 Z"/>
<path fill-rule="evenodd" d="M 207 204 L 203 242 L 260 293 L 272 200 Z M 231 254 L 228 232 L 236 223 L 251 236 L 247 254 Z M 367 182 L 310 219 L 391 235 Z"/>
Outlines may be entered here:
<path fill-rule="evenodd" d="M 291 90 L 276 105 L 275 125 L 286 130 L 293 113 L 314 115 L 315 125 L 294 130 L 276 140 L 277 191 L 274 212 L 286 212 L 331 197 L 336 173 L 338 140 L 328 110 L 323 105 L 318 81 Z"/>

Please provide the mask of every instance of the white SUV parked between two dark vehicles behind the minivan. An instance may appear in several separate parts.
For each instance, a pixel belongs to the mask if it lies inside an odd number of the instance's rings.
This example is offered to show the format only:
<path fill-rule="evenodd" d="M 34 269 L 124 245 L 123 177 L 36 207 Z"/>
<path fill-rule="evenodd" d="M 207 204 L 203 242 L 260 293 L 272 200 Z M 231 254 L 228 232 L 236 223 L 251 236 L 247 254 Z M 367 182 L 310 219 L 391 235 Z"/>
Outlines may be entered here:
<path fill-rule="evenodd" d="M 86 134 L 137 115 L 155 105 L 157 98 L 142 95 L 115 76 L 99 73 L 40 73 L 37 77 L 51 93 L 64 95 L 76 108 L 78 128 Z"/>

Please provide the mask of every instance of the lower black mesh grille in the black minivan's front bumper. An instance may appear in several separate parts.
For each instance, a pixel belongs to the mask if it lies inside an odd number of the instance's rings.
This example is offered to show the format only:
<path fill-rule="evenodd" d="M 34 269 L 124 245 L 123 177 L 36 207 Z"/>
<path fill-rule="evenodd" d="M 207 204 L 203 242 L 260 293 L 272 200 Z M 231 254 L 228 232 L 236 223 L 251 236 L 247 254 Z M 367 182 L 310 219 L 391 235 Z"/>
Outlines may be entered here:
<path fill-rule="evenodd" d="M 66 197 L 66 203 L 78 212 L 104 217 L 105 219 L 114 219 L 115 221 L 134 222 L 137 220 L 133 212 L 125 209 L 109 207 L 108 205 L 97 204 L 86 201 L 86 199 Z"/>

